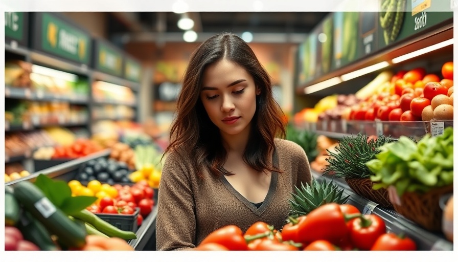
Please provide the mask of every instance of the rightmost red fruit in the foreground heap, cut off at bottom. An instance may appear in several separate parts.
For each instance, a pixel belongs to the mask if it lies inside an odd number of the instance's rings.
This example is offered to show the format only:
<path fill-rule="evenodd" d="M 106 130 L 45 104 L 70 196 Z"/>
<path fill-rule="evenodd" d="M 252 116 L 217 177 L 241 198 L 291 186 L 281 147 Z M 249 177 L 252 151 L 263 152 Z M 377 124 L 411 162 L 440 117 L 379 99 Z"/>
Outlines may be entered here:
<path fill-rule="evenodd" d="M 415 242 L 403 235 L 385 233 L 377 238 L 371 250 L 375 251 L 414 251 L 417 250 Z"/>

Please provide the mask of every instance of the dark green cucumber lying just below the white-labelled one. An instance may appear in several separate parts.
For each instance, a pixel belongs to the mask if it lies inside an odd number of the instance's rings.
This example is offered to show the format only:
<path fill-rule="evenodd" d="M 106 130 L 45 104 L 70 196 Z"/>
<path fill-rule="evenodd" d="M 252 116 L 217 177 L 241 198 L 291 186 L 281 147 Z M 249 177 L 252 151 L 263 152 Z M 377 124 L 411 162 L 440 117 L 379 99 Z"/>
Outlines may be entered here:
<path fill-rule="evenodd" d="M 33 244 L 37 245 L 40 250 L 56 251 L 60 248 L 54 243 L 50 233 L 46 228 L 37 221 L 28 211 L 22 212 L 17 223 L 17 228 L 21 231 L 22 236 Z"/>

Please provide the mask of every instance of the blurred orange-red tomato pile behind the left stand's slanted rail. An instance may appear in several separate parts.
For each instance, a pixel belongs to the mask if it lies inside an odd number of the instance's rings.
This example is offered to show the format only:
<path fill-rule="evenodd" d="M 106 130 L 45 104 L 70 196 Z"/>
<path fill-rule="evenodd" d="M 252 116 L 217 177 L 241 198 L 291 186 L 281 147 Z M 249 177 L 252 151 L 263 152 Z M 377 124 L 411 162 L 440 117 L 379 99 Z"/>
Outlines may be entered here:
<path fill-rule="evenodd" d="M 52 158 L 80 158 L 102 150 L 102 146 L 89 139 L 77 139 L 73 144 L 54 147 Z"/>

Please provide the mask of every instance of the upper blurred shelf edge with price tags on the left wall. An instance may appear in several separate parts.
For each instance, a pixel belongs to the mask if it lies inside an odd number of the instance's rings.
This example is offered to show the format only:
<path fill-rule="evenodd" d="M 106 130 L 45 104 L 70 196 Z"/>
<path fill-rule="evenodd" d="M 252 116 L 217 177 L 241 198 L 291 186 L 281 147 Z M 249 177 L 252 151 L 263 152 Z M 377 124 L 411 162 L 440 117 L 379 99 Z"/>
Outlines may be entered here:
<path fill-rule="evenodd" d="M 64 101 L 73 104 L 87 104 L 88 96 L 77 94 L 62 95 L 43 91 L 34 91 L 30 88 L 17 88 L 13 86 L 5 86 L 5 98 L 24 99 L 33 101 Z"/>

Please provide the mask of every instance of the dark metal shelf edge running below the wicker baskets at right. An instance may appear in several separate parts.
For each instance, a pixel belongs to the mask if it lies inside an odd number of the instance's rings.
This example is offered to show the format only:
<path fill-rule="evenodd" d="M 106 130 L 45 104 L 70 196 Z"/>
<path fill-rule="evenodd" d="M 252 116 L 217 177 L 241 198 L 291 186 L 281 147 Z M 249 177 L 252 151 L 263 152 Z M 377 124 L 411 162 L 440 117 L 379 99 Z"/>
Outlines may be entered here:
<path fill-rule="evenodd" d="M 412 238 L 417 244 L 418 250 L 453 250 L 453 243 L 447 241 L 442 234 L 427 231 L 416 223 L 406 219 L 394 210 L 380 207 L 378 204 L 356 194 L 341 178 L 322 176 L 322 174 L 312 170 L 313 177 L 318 180 L 332 181 L 338 187 L 344 189 L 345 194 L 349 194 L 348 204 L 357 207 L 363 214 L 376 214 L 380 216 L 386 224 L 388 231 L 394 233 L 404 233 Z"/>

